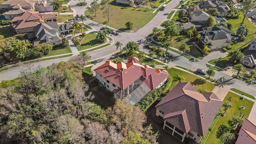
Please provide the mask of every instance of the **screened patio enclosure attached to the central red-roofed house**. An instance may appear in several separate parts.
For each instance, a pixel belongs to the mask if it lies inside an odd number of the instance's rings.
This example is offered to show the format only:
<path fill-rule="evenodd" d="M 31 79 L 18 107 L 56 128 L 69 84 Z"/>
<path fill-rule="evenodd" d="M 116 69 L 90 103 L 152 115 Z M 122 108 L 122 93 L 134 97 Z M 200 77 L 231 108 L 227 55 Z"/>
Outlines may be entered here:
<path fill-rule="evenodd" d="M 114 96 L 116 99 L 126 100 L 129 104 L 135 105 L 150 91 L 151 90 L 147 84 L 138 79 L 130 84 L 125 90 L 120 90 L 114 94 Z"/>

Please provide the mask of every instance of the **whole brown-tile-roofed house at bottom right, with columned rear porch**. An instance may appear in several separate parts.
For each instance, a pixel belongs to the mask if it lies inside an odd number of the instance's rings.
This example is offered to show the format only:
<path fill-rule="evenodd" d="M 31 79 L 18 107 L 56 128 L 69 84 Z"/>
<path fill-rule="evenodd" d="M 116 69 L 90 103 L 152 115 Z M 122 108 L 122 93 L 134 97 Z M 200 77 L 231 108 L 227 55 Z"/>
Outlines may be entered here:
<path fill-rule="evenodd" d="M 197 91 L 189 82 L 179 82 L 155 106 L 163 129 L 182 142 L 188 138 L 199 143 L 224 103 L 213 92 Z"/>

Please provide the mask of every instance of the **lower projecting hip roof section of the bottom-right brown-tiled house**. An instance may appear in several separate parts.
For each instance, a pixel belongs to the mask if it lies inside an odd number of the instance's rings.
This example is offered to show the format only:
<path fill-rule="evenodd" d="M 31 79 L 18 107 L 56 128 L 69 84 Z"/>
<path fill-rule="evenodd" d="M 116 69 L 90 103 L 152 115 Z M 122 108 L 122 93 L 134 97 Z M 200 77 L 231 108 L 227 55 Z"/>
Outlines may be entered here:
<path fill-rule="evenodd" d="M 190 125 L 188 122 L 188 116 L 186 114 L 186 110 L 181 110 L 178 112 L 166 114 L 166 116 L 164 116 L 164 120 L 166 120 L 170 124 L 173 124 L 178 129 L 182 130 L 182 132 L 185 132 L 186 134 L 188 134 L 190 130 Z"/>

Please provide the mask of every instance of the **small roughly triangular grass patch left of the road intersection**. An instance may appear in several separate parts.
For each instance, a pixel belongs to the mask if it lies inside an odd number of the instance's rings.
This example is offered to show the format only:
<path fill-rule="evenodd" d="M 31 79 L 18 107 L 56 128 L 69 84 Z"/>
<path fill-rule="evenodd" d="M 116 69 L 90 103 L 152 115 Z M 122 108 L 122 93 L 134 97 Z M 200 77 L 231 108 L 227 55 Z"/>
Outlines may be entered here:
<path fill-rule="evenodd" d="M 84 37 L 84 39 L 81 41 L 81 45 L 77 46 L 78 51 L 103 44 L 104 42 L 100 42 L 99 40 L 97 40 L 96 36 L 97 35 L 94 33 L 86 34 L 86 37 Z"/>

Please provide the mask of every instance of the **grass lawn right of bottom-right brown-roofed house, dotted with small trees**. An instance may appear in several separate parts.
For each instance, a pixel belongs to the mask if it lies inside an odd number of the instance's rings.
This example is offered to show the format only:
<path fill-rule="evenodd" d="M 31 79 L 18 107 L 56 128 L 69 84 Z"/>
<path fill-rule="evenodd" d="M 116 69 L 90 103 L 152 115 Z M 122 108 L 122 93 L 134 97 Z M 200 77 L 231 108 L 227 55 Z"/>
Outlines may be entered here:
<path fill-rule="evenodd" d="M 231 104 L 232 107 L 228 108 L 227 115 L 226 116 L 220 116 L 218 122 L 215 124 L 214 128 L 211 130 L 210 135 L 208 136 L 208 139 L 206 141 L 206 144 L 222 144 L 220 139 L 217 138 L 218 134 L 218 128 L 220 126 L 227 126 L 230 127 L 228 124 L 228 120 L 232 120 L 232 116 L 240 116 L 240 112 L 244 113 L 246 118 L 248 118 L 250 111 L 252 110 L 252 106 L 254 102 L 244 99 L 240 100 L 240 96 L 237 94 L 234 94 L 232 92 L 228 92 L 227 96 L 224 98 L 224 101 L 228 101 L 228 97 L 232 96 Z M 241 109 L 241 106 L 245 107 L 245 109 Z M 223 109 L 223 107 L 222 107 Z M 223 129 L 222 129 L 223 130 Z M 231 130 L 232 132 L 234 130 Z M 228 133 L 230 130 L 228 130 Z M 217 135 L 217 136 L 216 136 Z"/>

